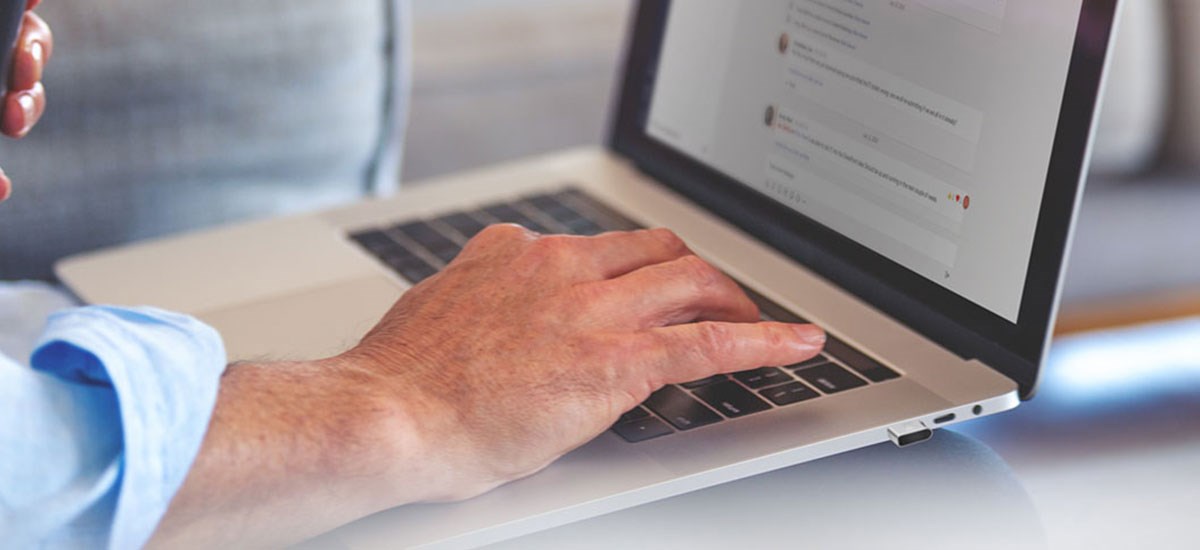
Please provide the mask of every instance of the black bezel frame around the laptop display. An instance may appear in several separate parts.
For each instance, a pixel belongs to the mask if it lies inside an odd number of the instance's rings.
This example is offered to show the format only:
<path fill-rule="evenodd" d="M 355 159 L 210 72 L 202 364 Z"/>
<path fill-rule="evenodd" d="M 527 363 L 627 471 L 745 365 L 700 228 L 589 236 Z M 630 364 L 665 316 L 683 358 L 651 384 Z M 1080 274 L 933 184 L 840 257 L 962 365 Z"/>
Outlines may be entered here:
<path fill-rule="evenodd" d="M 1004 373 L 1030 399 L 1054 323 L 1118 2 L 1082 4 L 1016 323 L 647 134 L 671 0 L 642 0 L 635 7 L 608 145 L 677 193 L 899 322 Z"/>

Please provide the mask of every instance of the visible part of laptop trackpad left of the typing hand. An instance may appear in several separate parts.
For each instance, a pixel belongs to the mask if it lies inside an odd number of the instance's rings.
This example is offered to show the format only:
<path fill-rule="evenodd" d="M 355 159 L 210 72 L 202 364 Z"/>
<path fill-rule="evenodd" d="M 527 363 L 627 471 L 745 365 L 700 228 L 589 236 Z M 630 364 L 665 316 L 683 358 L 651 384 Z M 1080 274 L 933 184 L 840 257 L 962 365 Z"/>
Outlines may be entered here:
<path fill-rule="evenodd" d="M 230 361 L 319 359 L 353 347 L 402 293 L 379 275 L 197 315 Z"/>

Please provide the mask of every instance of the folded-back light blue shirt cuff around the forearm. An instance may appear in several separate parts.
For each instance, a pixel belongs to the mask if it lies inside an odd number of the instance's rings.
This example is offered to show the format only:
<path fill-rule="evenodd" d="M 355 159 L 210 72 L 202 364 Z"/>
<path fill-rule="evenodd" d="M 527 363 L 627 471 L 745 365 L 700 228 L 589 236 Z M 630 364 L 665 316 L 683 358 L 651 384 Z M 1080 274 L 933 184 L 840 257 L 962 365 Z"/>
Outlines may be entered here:
<path fill-rule="evenodd" d="M 115 393 L 124 447 L 109 546 L 145 545 L 208 431 L 226 367 L 221 336 L 156 309 L 79 307 L 50 316 L 31 366 Z"/>

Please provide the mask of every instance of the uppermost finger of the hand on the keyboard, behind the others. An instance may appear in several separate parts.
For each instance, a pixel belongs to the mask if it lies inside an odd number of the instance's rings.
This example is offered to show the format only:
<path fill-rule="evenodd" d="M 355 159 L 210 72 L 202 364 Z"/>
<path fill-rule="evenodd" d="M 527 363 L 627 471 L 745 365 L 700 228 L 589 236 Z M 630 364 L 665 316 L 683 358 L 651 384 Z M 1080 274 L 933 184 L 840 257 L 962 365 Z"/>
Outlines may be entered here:
<path fill-rule="evenodd" d="M 688 245 L 670 229 L 611 232 L 578 238 L 580 247 L 598 279 L 613 279 L 630 271 L 691 255 Z"/>

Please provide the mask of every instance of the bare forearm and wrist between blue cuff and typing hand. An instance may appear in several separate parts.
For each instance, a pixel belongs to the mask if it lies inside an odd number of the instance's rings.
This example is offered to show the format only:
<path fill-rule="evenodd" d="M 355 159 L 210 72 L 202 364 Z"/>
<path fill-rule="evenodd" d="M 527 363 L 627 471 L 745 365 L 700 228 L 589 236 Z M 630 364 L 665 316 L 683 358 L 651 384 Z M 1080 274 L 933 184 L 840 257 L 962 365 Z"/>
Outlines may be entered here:
<path fill-rule="evenodd" d="M 232 365 L 151 545 L 288 544 L 427 498 L 415 411 L 373 382 L 346 359 Z"/>

